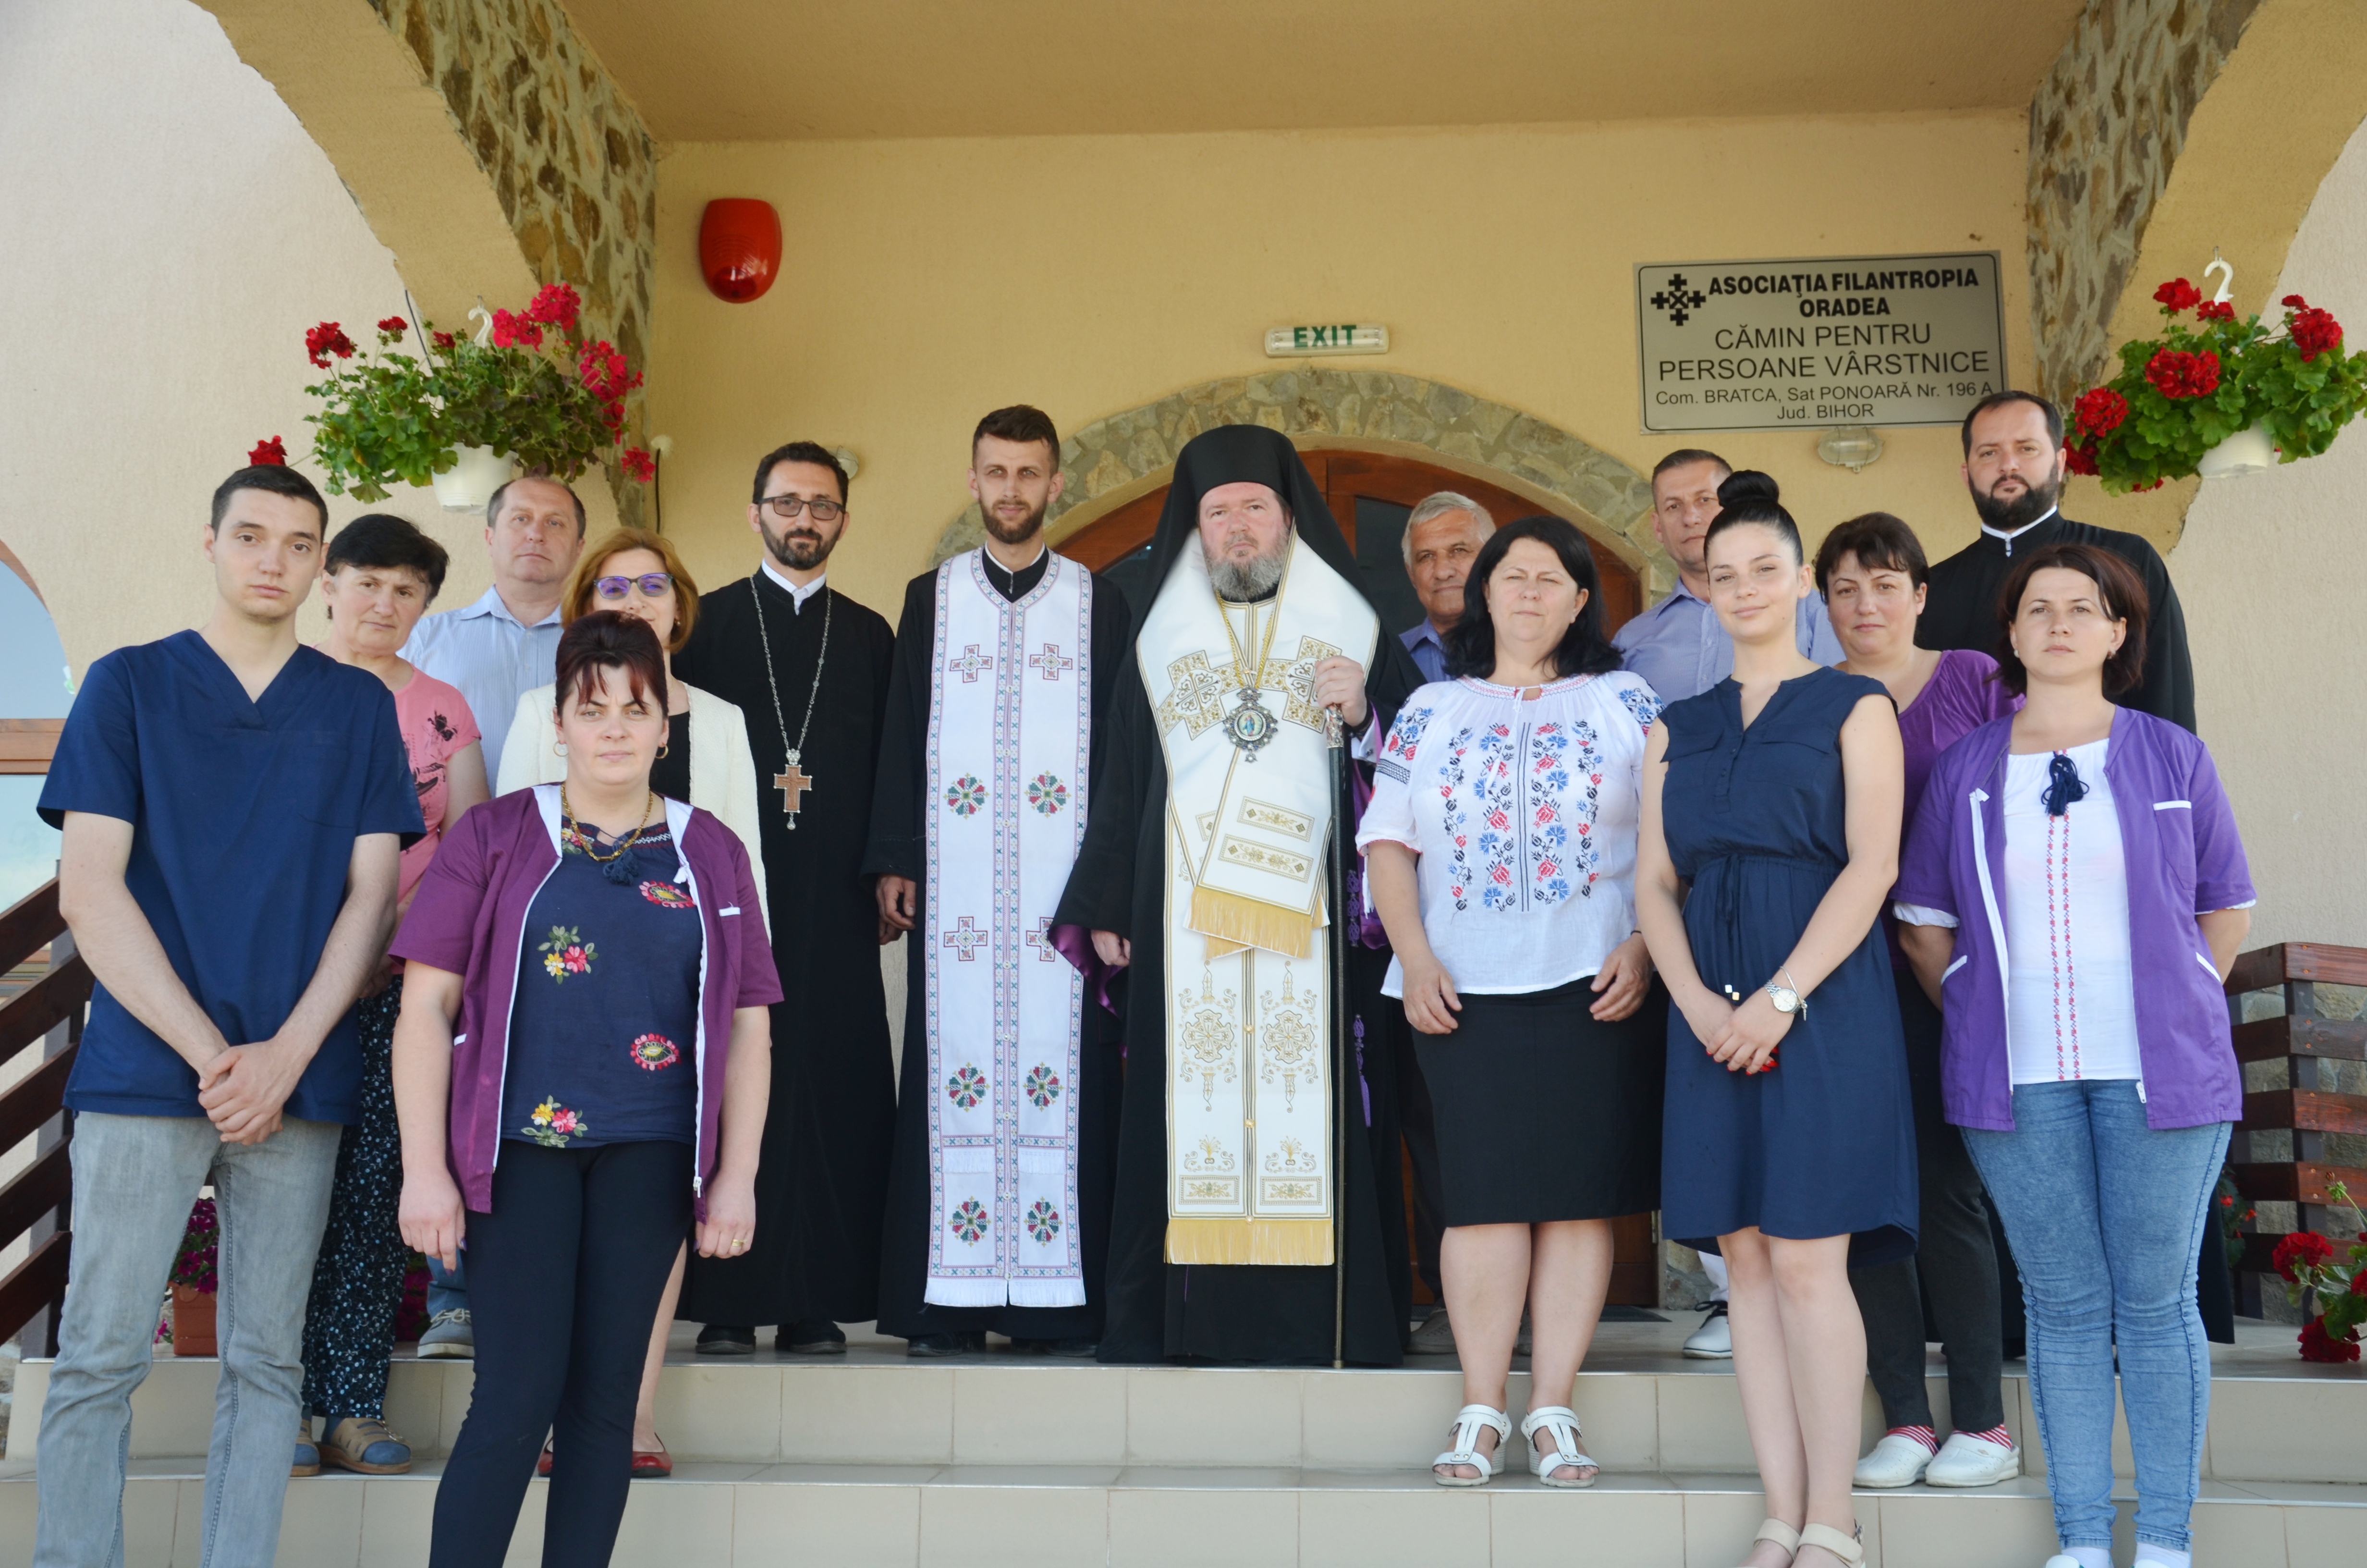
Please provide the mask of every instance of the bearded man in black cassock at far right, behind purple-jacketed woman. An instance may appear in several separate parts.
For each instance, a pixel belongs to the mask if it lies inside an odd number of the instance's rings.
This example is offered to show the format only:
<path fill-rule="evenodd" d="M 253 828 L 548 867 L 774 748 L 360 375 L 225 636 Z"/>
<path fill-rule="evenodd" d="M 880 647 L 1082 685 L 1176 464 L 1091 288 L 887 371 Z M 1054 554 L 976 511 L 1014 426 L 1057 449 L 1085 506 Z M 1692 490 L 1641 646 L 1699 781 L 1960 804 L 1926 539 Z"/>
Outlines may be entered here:
<path fill-rule="evenodd" d="M 2047 545 L 2095 545 L 2126 559 L 2145 580 L 2145 677 L 2114 701 L 2194 730 L 2194 661 L 2187 613 L 2161 552 L 2135 533 L 2090 528 L 2059 509 L 2064 488 L 2064 417 L 2036 393 L 1981 398 L 1965 417 L 1965 486 L 1981 514 L 1981 538 L 1931 568 L 1931 592 L 1915 642 L 1927 649 L 1995 654 L 1998 590 L 2014 557 Z M 1913 810 L 1913 801 L 1908 808 Z"/>

